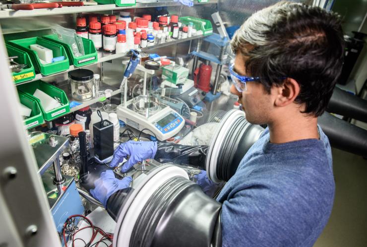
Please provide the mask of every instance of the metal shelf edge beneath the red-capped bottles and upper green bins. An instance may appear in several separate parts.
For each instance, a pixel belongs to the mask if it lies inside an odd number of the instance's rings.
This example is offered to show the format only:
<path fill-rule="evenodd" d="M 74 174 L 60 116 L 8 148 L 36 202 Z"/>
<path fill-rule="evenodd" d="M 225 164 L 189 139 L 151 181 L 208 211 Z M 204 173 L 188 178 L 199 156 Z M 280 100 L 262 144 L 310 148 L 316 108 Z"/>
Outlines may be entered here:
<path fill-rule="evenodd" d="M 31 11 L 31 10 L 29 10 L 29 11 Z M 163 43 L 163 44 L 158 44 L 158 45 L 142 48 L 141 51 L 145 52 L 145 51 L 150 51 L 150 50 L 154 50 L 154 49 L 159 49 L 159 48 L 162 48 L 162 47 L 172 46 L 172 45 L 176 45 L 176 44 L 183 43 L 183 42 L 186 42 L 186 41 L 200 39 L 200 38 L 203 38 L 203 37 L 205 37 L 205 36 L 204 35 L 195 35 L 195 36 L 192 36 L 192 37 L 186 38 L 186 39 L 174 40 L 174 41 L 166 42 L 166 43 Z M 88 66 L 93 65 L 93 64 L 100 63 L 100 62 L 107 62 L 107 61 L 111 61 L 111 60 L 115 60 L 115 59 L 120 59 L 124 56 L 127 56 L 127 53 L 114 54 L 114 53 L 107 53 L 107 52 L 103 52 L 103 51 L 97 51 L 97 56 L 98 56 L 97 62 L 87 64 L 87 65 L 83 66 L 83 68 L 88 67 Z M 22 85 L 22 84 L 29 83 L 29 82 L 32 82 L 32 81 L 43 80 L 45 78 L 52 77 L 52 76 L 62 74 L 62 73 L 66 73 L 68 71 L 78 69 L 78 68 L 82 68 L 82 67 L 77 67 L 75 65 L 70 65 L 70 67 L 67 70 L 61 71 L 59 73 L 50 74 L 50 75 L 36 74 L 34 79 L 24 81 L 24 82 L 20 82 L 20 83 L 17 83 L 16 85 L 18 86 L 18 85 Z"/>

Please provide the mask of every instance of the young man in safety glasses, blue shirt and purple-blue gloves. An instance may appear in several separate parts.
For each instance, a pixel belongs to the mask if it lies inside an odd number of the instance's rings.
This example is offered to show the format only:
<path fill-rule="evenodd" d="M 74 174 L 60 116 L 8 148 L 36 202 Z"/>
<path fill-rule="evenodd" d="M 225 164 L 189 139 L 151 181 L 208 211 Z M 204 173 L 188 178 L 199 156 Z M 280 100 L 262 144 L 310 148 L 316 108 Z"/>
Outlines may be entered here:
<path fill-rule="evenodd" d="M 222 203 L 222 244 L 311 247 L 334 200 L 331 149 L 317 117 L 341 71 L 340 18 L 282 1 L 249 17 L 231 45 L 236 54 L 231 92 L 239 97 L 248 122 L 268 128 L 217 198 Z M 156 151 L 155 142 L 123 143 L 112 163 L 130 155 L 126 170 L 154 158 Z M 199 185 L 205 187 L 205 181 L 203 173 Z M 110 194 L 126 186 L 91 192 L 107 203 Z"/>

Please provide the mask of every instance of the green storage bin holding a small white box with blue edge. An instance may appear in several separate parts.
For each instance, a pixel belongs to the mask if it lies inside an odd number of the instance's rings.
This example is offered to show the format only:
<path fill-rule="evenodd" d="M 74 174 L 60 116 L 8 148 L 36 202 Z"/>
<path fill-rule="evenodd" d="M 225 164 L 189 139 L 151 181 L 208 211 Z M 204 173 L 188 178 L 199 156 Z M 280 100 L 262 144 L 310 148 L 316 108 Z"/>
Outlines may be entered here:
<path fill-rule="evenodd" d="M 58 73 L 69 68 L 69 59 L 67 57 L 66 51 L 60 44 L 51 42 L 49 40 L 45 40 L 40 37 L 33 37 L 27 39 L 20 39 L 20 40 L 11 40 L 9 44 L 19 48 L 22 51 L 28 53 L 31 61 L 34 65 L 34 68 L 37 72 L 43 75 L 50 75 L 54 73 Z M 53 51 L 54 58 L 64 56 L 65 60 L 59 62 L 52 62 L 48 64 L 42 64 L 38 58 L 37 52 L 31 50 L 29 47 L 30 45 L 38 44 L 44 46 Z"/>

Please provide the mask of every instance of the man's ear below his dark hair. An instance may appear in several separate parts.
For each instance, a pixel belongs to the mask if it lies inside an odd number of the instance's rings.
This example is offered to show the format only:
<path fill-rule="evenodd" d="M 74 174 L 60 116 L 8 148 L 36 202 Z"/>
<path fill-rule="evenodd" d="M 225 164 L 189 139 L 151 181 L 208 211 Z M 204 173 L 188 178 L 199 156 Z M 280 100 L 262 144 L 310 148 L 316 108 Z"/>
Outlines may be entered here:
<path fill-rule="evenodd" d="M 283 85 L 276 87 L 276 99 L 274 104 L 276 106 L 287 106 L 294 102 L 300 93 L 300 84 L 295 79 L 286 78 Z"/>

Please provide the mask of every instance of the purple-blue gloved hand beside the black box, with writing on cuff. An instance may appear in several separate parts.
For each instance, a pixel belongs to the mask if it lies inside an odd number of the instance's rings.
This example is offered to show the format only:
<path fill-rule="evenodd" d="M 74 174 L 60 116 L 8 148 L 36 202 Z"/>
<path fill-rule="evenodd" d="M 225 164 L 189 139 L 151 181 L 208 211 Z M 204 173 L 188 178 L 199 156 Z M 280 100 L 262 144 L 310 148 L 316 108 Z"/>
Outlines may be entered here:
<path fill-rule="evenodd" d="M 124 173 L 138 162 L 153 159 L 156 152 L 157 142 L 155 141 L 126 141 L 116 148 L 110 166 L 117 167 L 123 158 L 130 156 L 122 166 L 121 171 Z"/>

